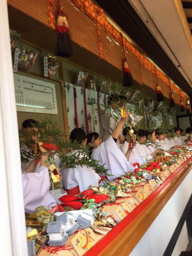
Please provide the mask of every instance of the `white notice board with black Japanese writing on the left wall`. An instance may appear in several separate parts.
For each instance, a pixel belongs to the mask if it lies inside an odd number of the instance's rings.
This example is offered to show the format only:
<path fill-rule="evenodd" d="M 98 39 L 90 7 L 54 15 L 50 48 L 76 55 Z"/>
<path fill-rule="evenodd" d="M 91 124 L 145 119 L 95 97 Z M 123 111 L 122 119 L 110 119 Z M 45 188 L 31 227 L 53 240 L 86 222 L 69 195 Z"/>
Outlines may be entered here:
<path fill-rule="evenodd" d="M 17 111 L 58 114 L 55 84 L 14 74 Z"/>

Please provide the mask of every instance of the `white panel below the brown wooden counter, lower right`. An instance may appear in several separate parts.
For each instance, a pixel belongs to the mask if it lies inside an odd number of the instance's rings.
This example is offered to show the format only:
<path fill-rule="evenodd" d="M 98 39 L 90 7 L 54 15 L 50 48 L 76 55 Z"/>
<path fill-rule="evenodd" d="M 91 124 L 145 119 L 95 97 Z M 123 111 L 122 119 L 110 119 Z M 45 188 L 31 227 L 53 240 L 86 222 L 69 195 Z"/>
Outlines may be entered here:
<path fill-rule="evenodd" d="M 152 225 L 145 232 L 139 243 L 130 253 L 130 256 L 161 256 L 163 255 L 170 238 L 182 216 L 184 208 L 192 192 L 192 167 L 173 196 L 161 210 Z M 181 248 L 180 248 L 181 247 Z M 187 247 L 186 232 L 182 230 L 180 242 L 174 252 L 180 252 Z M 179 254 L 175 254 L 179 255 Z"/>

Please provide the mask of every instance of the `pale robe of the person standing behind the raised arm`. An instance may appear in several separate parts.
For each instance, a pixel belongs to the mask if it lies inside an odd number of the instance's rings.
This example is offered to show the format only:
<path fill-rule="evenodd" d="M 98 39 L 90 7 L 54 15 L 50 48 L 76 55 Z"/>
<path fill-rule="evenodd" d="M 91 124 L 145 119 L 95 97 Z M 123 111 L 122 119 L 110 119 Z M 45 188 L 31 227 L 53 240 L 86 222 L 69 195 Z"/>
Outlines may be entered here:
<path fill-rule="evenodd" d="M 116 120 L 111 117 L 110 113 L 117 118 L 117 114 L 113 109 L 105 109 L 100 119 L 100 136 L 102 141 L 108 139 L 117 126 Z"/>

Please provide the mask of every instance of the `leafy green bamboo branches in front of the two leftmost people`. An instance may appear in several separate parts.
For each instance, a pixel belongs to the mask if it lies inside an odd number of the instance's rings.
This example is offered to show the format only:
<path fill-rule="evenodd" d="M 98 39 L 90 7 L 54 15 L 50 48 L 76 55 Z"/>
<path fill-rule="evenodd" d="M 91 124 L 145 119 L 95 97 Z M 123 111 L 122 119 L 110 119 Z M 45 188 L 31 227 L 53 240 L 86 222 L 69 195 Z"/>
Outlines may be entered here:
<path fill-rule="evenodd" d="M 77 142 L 67 142 L 66 136 L 65 133 L 59 130 L 57 120 L 52 117 L 38 121 L 37 126 L 31 129 L 20 129 L 20 144 L 25 145 L 20 150 L 22 162 L 29 162 L 29 160 L 34 159 L 34 144 L 35 140 L 37 140 L 39 142 L 49 142 L 57 145 L 57 154 L 61 160 L 59 167 L 75 167 L 80 164 L 81 166 L 86 165 L 93 168 L 98 174 L 108 173 L 108 169 L 100 165 L 97 160 L 89 158 L 88 148 L 86 146 L 82 146 L 82 144 Z M 75 154 L 66 155 L 66 153 L 74 151 Z M 56 152 L 52 153 L 55 154 Z"/>

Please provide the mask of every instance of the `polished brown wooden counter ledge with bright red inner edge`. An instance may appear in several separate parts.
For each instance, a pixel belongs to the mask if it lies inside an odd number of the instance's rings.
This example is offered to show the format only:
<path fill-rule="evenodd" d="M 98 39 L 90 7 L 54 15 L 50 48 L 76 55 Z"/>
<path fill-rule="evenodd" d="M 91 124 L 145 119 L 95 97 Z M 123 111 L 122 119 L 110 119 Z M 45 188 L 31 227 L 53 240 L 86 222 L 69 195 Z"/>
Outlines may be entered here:
<path fill-rule="evenodd" d="M 189 174 L 191 164 L 192 157 L 85 255 L 129 255 Z"/>

